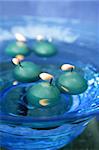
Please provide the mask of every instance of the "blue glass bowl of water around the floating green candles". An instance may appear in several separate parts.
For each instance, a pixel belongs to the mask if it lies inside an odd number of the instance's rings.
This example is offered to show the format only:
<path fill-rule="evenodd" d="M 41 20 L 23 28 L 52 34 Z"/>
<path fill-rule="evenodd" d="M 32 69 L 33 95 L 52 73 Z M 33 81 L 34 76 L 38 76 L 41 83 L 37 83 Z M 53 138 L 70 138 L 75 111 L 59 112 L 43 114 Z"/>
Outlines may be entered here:
<path fill-rule="evenodd" d="M 18 18 L 13 21 L 9 18 L 2 19 L 1 49 L 5 49 L 9 42 L 13 42 L 13 34 L 16 31 L 27 37 L 30 48 L 33 39 L 35 42 L 37 35 L 42 35 L 56 45 L 58 54 L 51 58 L 40 58 L 31 54 L 26 60 L 41 64 L 44 66 L 44 71 L 55 73 L 55 75 L 59 73 L 57 68 L 62 63 L 75 64 L 81 68 L 79 71 L 84 74 L 89 86 L 83 94 L 73 96 L 72 107 L 59 116 L 48 118 L 16 116 L 2 111 L 1 105 L 1 146 L 9 150 L 59 149 L 82 133 L 88 122 L 99 114 L 99 66 L 97 65 L 98 46 L 94 39 L 95 28 L 94 24 L 86 23 L 82 32 L 81 23 L 79 20 L 47 20 L 30 17 L 21 18 L 21 21 Z M 14 78 L 11 75 L 13 70 L 11 58 L 5 54 L 4 50 L 0 53 L 2 56 L 1 77 L 5 80 L 4 89 L 0 93 L 2 104 L 11 90 L 27 87 L 30 84 L 12 85 Z M 46 128 L 42 128 L 43 125 Z M 41 128 L 38 129 L 37 126 Z"/>

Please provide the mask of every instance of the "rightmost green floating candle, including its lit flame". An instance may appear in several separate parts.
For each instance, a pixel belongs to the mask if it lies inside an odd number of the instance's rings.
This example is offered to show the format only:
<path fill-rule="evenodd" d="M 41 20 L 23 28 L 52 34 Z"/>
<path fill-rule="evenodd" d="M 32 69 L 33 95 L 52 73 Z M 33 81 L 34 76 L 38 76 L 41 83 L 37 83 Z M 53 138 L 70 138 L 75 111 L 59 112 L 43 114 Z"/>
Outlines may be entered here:
<path fill-rule="evenodd" d="M 87 87 L 87 81 L 78 72 L 75 71 L 75 66 L 64 64 L 61 69 L 65 71 L 57 80 L 59 89 L 64 93 L 72 95 L 83 93 Z"/>

